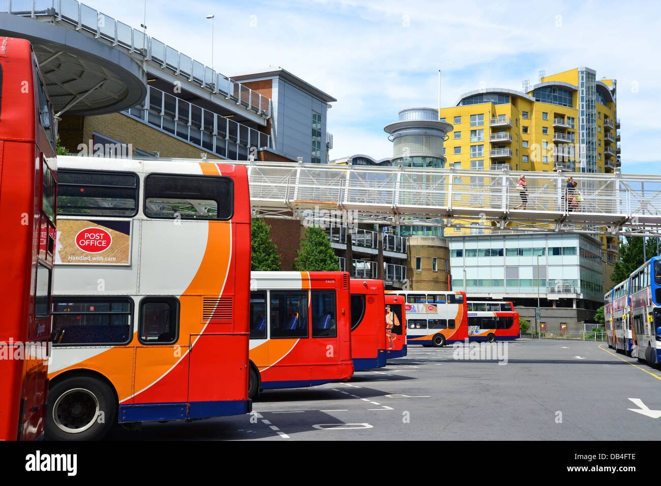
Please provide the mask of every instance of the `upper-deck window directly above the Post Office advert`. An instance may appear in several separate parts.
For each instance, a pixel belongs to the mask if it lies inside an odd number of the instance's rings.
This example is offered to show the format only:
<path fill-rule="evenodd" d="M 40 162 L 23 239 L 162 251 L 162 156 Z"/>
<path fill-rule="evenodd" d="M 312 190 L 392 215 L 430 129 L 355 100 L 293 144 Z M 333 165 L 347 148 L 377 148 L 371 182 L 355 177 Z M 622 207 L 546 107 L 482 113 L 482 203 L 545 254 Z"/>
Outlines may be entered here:
<path fill-rule="evenodd" d="M 129 172 L 58 171 L 58 214 L 132 217 L 137 213 L 137 175 Z"/>

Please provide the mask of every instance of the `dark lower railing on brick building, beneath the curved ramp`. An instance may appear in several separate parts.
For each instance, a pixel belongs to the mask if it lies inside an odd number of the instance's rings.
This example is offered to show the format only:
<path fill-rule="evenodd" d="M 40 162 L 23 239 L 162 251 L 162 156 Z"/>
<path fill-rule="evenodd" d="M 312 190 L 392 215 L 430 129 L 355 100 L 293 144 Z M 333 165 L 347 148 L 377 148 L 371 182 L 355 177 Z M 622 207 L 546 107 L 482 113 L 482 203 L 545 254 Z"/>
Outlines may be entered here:
<path fill-rule="evenodd" d="M 124 113 L 229 160 L 248 160 L 251 147 L 271 146 L 266 133 L 153 87 L 141 106 Z"/>

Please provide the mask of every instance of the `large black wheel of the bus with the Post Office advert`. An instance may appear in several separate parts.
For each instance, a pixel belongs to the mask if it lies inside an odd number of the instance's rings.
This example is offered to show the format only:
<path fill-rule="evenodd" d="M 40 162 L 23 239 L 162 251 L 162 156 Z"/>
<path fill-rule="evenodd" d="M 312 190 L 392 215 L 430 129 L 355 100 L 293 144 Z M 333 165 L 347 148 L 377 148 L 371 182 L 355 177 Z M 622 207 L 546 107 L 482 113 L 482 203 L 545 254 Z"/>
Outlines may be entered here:
<path fill-rule="evenodd" d="M 115 421 L 117 401 L 110 386 L 90 376 L 56 383 L 48 391 L 47 440 L 98 440 Z"/>

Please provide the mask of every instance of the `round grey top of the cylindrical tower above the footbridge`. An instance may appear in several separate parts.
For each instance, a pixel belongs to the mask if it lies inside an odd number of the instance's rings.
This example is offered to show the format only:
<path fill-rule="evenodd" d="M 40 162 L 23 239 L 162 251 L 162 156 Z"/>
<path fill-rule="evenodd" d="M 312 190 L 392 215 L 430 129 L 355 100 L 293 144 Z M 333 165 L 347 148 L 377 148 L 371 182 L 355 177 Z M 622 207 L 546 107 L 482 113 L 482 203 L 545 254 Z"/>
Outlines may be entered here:
<path fill-rule="evenodd" d="M 436 108 L 407 108 L 383 129 L 393 142 L 393 166 L 445 168 L 443 142 L 453 126 L 438 120 Z"/>

